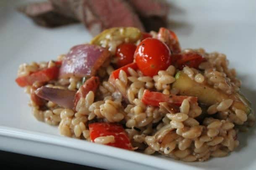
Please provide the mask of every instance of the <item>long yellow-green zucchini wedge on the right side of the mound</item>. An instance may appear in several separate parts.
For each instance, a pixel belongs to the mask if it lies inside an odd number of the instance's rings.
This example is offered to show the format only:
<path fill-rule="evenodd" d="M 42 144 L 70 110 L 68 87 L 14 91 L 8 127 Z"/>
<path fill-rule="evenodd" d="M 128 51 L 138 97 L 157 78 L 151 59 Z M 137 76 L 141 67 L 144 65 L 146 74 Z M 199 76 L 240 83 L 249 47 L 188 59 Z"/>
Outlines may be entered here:
<path fill-rule="evenodd" d="M 172 84 L 172 88 L 180 90 L 180 95 L 196 96 L 199 102 L 206 106 L 231 98 L 234 100 L 232 106 L 245 111 L 247 114 L 251 113 L 251 107 L 237 99 L 235 95 L 227 95 L 208 85 L 197 83 L 182 71 L 178 72 L 175 78 L 176 81 Z"/>

